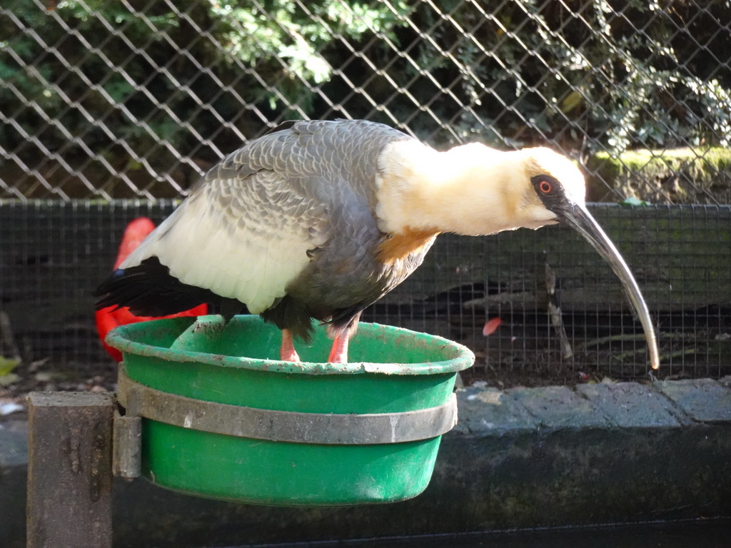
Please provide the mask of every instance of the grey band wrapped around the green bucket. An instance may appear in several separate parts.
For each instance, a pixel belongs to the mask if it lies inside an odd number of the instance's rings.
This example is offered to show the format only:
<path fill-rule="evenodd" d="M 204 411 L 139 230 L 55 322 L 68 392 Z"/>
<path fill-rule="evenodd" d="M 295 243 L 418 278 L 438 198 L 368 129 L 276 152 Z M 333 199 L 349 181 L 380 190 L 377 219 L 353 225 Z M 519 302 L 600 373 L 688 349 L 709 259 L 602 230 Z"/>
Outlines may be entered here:
<path fill-rule="evenodd" d="M 457 398 L 417 411 L 377 414 L 299 413 L 232 406 L 162 392 L 119 369 L 117 397 L 127 416 L 192 430 L 300 444 L 396 444 L 434 438 L 457 424 Z"/>

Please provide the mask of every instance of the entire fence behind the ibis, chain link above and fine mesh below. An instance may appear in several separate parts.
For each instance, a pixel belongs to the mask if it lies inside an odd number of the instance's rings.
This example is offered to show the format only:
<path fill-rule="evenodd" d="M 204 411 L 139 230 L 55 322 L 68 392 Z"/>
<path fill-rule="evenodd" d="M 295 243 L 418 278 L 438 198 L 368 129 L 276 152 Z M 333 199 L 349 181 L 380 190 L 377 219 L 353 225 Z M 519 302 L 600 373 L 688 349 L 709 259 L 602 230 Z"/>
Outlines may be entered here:
<path fill-rule="evenodd" d="M 0 296 L 28 353 L 101 359 L 88 289 L 124 222 L 159 221 L 219 159 L 293 118 L 572 156 L 591 202 L 634 205 L 596 213 L 648 294 L 663 374 L 726 372 L 728 0 L 5 1 Z M 596 302 L 616 281 L 565 238 L 448 237 L 369 319 L 463 340 L 483 373 L 535 372 L 567 362 L 545 312 L 555 272 L 575 369 L 644 374 L 626 303 Z M 62 310 L 48 313 L 58 329 L 39 329 L 34 306 Z"/>

